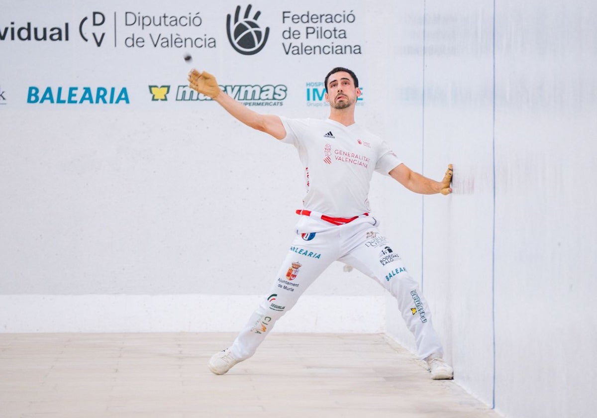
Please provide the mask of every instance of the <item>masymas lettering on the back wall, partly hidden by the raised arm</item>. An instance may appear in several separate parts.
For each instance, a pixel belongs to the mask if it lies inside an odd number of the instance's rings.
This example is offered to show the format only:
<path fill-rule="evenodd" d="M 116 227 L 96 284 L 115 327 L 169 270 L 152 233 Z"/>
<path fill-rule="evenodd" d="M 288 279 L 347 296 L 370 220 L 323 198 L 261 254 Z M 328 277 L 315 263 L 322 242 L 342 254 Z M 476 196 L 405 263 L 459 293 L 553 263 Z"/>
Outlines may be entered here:
<path fill-rule="evenodd" d="M 239 84 L 220 85 L 221 90 L 228 96 L 245 106 L 282 106 L 286 99 L 288 88 L 284 84 Z M 177 102 L 203 102 L 213 100 L 209 96 L 197 93 L 188 85 L 179 85 L 176 90 Z"/>

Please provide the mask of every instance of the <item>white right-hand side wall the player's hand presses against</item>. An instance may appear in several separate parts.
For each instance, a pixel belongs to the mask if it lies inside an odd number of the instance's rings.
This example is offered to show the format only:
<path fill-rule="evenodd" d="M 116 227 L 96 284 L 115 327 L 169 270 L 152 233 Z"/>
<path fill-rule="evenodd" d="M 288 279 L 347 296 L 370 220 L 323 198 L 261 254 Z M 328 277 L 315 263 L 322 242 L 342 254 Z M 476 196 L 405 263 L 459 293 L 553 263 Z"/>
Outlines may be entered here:
<path fill-rule="evenodd" d="M 424 173 L 455 165 L 454 194 L 424 198 L 420 226 L 424 293 L 456 379 L 504 416 L 592 417 L 597 7 L 401 7 L 421 21 L 399 39 L 421 45 L 409 82 L 424 92 Z M 388 329 L 412 347 L 404 326 Z"/>

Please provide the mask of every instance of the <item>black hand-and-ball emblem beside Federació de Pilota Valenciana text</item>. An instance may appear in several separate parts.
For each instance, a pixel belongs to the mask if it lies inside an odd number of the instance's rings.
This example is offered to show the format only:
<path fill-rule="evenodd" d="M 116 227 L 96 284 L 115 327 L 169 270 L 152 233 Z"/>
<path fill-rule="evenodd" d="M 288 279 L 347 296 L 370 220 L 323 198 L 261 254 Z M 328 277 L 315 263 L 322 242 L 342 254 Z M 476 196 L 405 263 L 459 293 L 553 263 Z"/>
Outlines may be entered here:
<path fill-rule="evenodd" d="M 247 6 L 245 16 L 239 19 L 241 14 L 241 7 L 236 6 L 236 13 L 234 14 L 234 22 L 231 21 L 232 16 L 229 14 L 226 19 L 226 29 L 228 33 L 228 41 L 236 52 L 243 55 L 254 55 L 263 50 L 269 36 L 269 27 L 263 29 L 257 24 L 257 19 L 261 15 L 257 11 L 253 19 L 249 17 L 251 13 L 251 5 Z"/>

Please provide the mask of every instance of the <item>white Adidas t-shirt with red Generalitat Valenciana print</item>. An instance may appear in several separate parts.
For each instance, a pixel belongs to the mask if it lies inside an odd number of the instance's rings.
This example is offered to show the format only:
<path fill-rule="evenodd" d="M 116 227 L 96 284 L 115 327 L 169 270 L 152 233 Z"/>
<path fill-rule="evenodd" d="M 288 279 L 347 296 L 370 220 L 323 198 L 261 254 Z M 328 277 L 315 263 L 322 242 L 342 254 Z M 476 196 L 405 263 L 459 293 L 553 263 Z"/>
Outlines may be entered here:
<path fill-rule="evenodd" d="M 388 175 L 401 164 L 386 142 L 358 124 L 331 119 L 288 119 L 282 142 L 294 145 L 304 167 L 305 209 L 333 217 L 370 211 L 368 195 L 373 171 Z"/>

